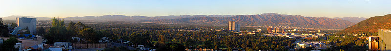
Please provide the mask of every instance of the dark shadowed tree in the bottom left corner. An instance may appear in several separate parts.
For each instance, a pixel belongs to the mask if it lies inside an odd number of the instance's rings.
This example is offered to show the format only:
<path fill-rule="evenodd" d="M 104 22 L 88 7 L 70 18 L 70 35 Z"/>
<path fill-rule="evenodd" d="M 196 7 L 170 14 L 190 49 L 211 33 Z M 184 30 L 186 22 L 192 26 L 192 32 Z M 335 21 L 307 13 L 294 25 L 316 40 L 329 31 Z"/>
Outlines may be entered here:
<path fill-rule="evenodd" d="M 18 51 L 18 48 L 14 47 L 18 42 L 21 41 L 17 40 L 16 38 L 9 38 L 2 43 L 0 46 L 0 51 Z"/>

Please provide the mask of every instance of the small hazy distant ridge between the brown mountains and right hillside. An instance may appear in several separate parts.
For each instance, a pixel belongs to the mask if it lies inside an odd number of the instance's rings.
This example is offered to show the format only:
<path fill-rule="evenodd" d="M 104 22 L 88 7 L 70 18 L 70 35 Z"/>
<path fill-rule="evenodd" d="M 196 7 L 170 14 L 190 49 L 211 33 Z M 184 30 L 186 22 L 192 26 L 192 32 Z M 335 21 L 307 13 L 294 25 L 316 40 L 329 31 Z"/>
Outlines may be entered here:
<path fill-rule="evenodd" d="M 342 20 L 347 20 L 347 21 L 350 21 L 352 23 L 358 23 L 360 21 L 363 21 L 365 19 L 368 19 L 368 18 L 364 18 L 364 17 L 335 17 L 334 19 L 342 19 Z"/>

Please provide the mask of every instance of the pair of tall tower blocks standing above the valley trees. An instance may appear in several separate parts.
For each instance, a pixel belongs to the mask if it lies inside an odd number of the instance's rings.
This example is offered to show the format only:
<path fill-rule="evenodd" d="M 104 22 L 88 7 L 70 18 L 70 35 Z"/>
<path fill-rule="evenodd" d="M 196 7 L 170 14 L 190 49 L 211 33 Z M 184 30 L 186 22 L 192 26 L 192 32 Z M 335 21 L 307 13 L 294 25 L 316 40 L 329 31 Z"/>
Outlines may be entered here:
<path fill-rule="evenodd" d="M 237 24 L 235 21 L 229 21 L 228 31 L 240 32 L 240 24 Z"/>

